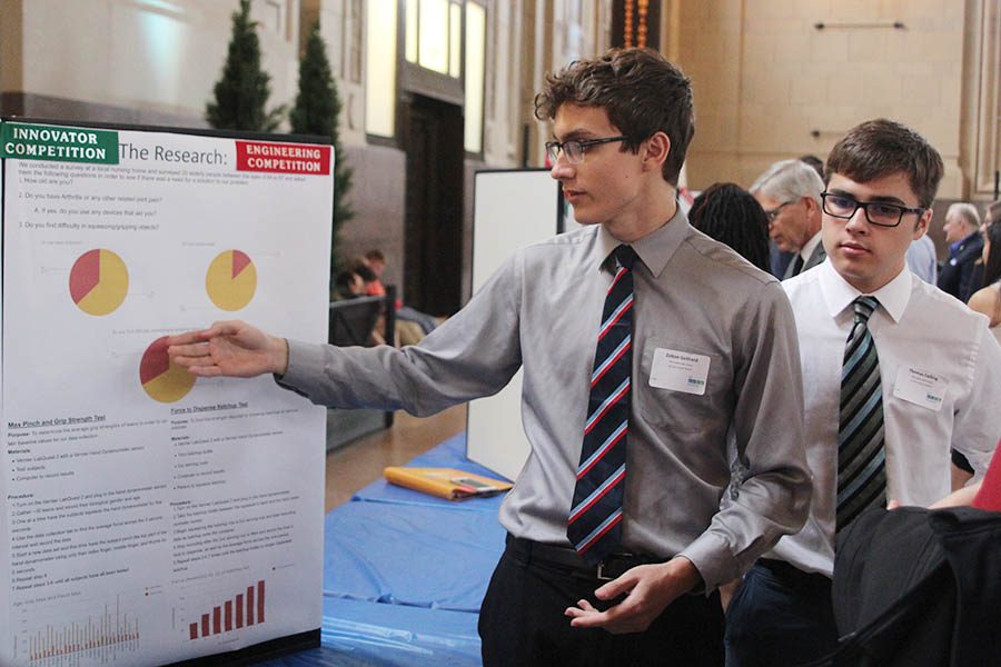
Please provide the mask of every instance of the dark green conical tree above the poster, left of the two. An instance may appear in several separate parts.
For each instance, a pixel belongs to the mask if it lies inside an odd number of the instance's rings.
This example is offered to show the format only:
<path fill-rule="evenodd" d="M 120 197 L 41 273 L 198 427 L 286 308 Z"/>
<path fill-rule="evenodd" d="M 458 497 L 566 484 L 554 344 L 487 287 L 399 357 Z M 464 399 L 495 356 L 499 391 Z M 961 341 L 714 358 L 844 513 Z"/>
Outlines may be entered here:
<path fill-rule="evenodd" d="M 208 102 L 205 119 L 219 130 L 271 132 L 285 116 L 285 106 L 265 111 L 271 94 L 271 77 L 260 69 L 257 22 L 250 20 L 250 0 L 240 0 L 232 12 L 232 39 L 216 83 L 215 102 Z"/>

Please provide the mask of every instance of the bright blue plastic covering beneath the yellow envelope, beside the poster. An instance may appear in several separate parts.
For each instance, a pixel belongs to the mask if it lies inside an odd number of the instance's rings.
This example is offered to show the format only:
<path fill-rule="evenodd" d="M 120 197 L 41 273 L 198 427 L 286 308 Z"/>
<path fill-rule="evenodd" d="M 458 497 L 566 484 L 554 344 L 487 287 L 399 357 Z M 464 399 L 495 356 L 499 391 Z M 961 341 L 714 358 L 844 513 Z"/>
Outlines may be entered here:
<path fill-rule="evenodd" d="M 460 434 L 408 465 L 497 477 L 465 450 Z M 480 665 L 479 603 L 504 550 L 499 506 L 365 487 L 326 517 L 321 646 L 260 665 Z"/>

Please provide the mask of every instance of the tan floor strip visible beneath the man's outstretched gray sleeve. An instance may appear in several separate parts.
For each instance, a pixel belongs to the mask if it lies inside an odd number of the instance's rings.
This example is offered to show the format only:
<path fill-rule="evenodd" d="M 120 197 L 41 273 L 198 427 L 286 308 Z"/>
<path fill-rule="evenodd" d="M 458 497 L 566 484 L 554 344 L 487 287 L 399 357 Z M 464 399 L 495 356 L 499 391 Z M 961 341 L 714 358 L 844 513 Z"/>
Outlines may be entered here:
<path fill-rule="evenodd" d="M 361 487 L 383 476 L 386 466 L 400 466 L 466 428 L 466 406 L 434 417 L 396 412 L 392 428 L 335 449 L 327 455 L 326 511 L 350 500 Z"/>

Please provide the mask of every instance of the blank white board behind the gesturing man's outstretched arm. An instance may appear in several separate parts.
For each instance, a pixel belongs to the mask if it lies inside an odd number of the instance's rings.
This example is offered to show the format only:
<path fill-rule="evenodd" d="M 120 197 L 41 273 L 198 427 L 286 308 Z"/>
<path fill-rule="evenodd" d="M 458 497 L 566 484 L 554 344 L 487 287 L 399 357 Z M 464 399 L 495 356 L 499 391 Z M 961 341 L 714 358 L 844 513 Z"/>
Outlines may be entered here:
<path fill-rule="evenodd" d="M 563 197 L 547 169 L 477 171 L 473 201 L 473 291 L 518 248 L 562 231 Z M 528 457 L 522 371 L 498 394 L 469 404 L 466 456 L 515 479 Z"/>

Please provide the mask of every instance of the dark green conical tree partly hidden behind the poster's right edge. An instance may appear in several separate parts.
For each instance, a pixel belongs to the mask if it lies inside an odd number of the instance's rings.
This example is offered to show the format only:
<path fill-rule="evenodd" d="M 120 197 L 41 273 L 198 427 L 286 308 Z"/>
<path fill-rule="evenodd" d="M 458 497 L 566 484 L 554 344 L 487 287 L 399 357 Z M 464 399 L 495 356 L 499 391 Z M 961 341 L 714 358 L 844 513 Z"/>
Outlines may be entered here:
<path fill-rule="evenodd" d="M 330 137 L 334 143 L 334 220 L 331 221 L 330 275 L 343 265 L 338 253 L 337 235 L 340 227 L 355 216 L 347 203 L 351 187 L 351 170 L 348 168 L 340 147 L 338 119 L 340 96 L 330 73 L 327 47 L 320 36 L 319 22 L 313 24 L 306 41 L 306 50 L 299 60 L 299 94 L 289 113 L 291 131 L 296 135 Z"/>

